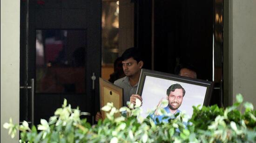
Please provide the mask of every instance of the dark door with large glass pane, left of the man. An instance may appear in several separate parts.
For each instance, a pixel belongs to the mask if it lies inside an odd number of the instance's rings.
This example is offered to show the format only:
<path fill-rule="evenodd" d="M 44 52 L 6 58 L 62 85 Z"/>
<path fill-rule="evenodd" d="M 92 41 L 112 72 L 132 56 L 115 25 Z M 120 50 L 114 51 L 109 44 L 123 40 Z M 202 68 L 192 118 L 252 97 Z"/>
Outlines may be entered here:
<path fill-rule="evenodd" d="M 94 115 L 99 110 L 96 100 L 99 98 L 97 77 L 101 73 L 101 0 L 21 0 L 20 3 L 20 85 L 29 86 L 30 79 L 35 79 L 34 123 L 39 124 L 40 118 L 54 115 L 64 98 L 72 108 L 79 106 L 82 112 Z M 46 43 L 51 42 L 48 39 L 42 43 L 43 57 L 39 57 L 36 56 L 40 51 L 37 30 L 85 30 L 86 34 L 69 40 L 74 43 L 62 42 L 62 49 L 57 44 L 48 45 L 47 51 Z M 81 46 L 77 41 L 85 43 L 84 50 L 78 50 Z M 65 46 L 74 47 L 70 50 L 63 48 Z M 61 53 L 66 58 L 63 59 Z M 75 53 L 84 54 L 84 58 L 77 58 Z M 96 76 L 94 89 L 93 73 Z M 47 74 L 52 78 L 46 78 Z M 55 90 L 51 90 L 52 86 Z M 30 91 L 29 88 L 20 90 L 20 121 L 32 118 Z M 92 122 L 92 116 L 87 118 Z"/>

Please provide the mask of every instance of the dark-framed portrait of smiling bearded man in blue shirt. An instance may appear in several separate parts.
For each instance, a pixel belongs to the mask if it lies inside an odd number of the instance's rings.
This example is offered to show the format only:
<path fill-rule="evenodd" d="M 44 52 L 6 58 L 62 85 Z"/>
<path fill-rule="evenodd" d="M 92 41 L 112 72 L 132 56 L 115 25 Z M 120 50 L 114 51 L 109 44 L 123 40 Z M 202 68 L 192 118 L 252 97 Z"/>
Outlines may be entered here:
<path fill-rule="evenodd" d="M 192 106 L 209 105 L 212 87 L 212 81 L 142 69 L 136 92 L 143 99 L 141 117 L 147 118 L 157 107 L 173 115 L 183 112 L 191 117 Z M 165 102 L 168 102 L 168 106 L 160 104 L 162 99 L 167 99 Z M 161 120 L 161 117 L 158 119 Z"/>

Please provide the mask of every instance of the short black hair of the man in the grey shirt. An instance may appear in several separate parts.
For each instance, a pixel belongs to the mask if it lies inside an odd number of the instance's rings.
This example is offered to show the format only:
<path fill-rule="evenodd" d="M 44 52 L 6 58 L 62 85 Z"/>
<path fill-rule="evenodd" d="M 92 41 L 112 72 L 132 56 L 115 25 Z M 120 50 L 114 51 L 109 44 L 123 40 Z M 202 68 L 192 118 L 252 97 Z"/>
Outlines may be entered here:
<path fill-rule="evenodd" d="M 134 58 L 137 62 L 142 61 L 141 51 L 138 48 L 132 47 L 125 50 L 122 54 L 122 60 L 127 60 L 128 58 Z"/>

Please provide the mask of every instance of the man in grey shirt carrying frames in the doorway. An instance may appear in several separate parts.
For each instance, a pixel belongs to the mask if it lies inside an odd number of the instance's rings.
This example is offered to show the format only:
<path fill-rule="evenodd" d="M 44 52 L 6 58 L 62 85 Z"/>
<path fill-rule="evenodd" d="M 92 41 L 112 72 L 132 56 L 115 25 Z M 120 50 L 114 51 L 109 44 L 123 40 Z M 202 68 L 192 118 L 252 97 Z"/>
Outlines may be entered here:
<path fill-rule="evenodd" d="M 135 105 L 136 98 L 142 102 L 141 96 L 136 94 L 143 67 L 141 52 L 138 48 L 129 48 L 124 51 L 121 58 L 123 72 L 126 76 L 116 80 L 114 84 L 123 88 L 123 106 L 126 106 L 127 101 Z M 101 112 L 97 112 L 95 120 L 98 121 L 100 118 L 102 118 Z"/>

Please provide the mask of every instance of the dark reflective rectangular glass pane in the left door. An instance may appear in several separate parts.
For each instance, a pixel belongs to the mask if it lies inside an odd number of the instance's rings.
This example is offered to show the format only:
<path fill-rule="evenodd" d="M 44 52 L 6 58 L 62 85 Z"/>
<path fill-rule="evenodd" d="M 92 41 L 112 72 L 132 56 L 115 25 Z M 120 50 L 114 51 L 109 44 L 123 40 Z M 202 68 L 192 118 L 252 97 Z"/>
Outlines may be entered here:
<path fill-rule="evenodd" d="M 85 46 L 85 30 L 36 30 L 36 93 L 84 93 Z"/>

